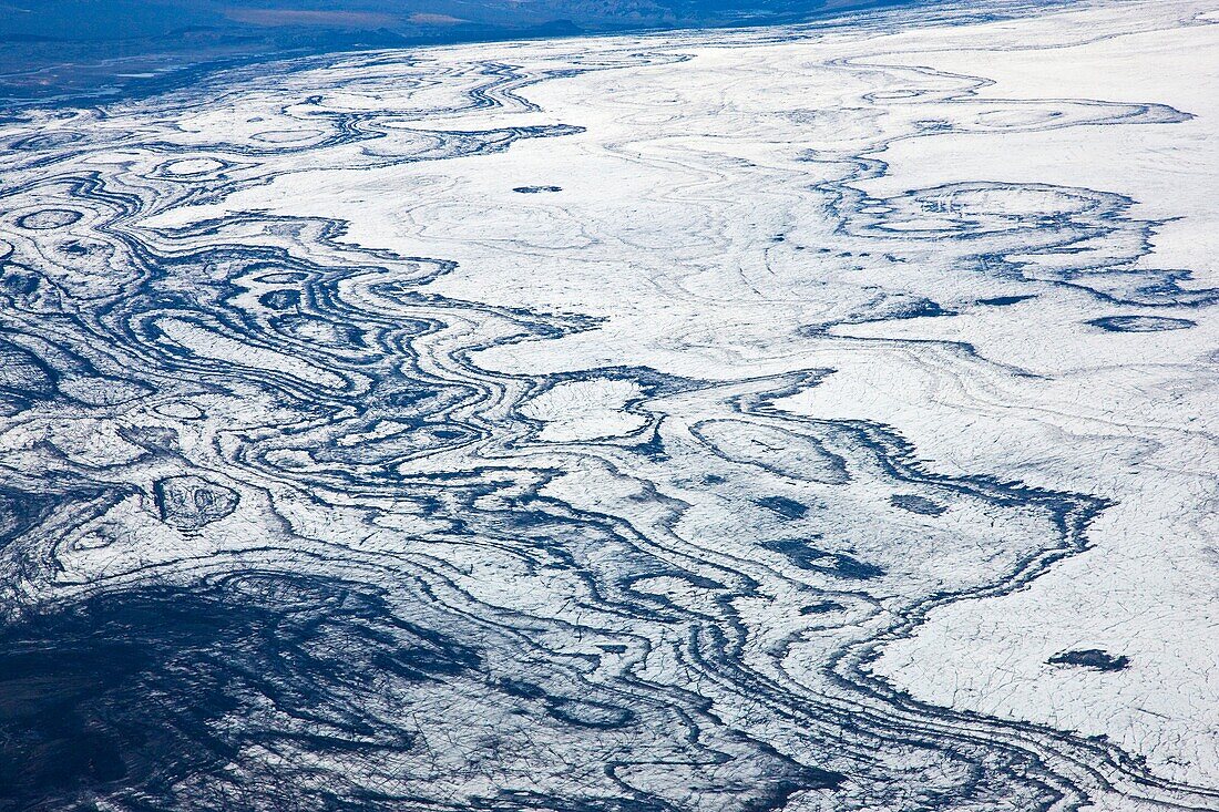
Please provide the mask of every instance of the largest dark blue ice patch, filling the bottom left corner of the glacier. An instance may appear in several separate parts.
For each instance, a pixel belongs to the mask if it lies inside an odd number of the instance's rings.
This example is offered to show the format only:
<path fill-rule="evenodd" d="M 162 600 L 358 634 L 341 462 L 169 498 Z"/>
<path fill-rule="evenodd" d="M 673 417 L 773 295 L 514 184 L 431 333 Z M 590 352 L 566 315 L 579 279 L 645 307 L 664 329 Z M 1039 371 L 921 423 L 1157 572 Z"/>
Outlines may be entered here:
<path fill-rule="evenodd" d="M 116 801 L 106 808 L 232 808 L 180 786 L 232 780 L 252 745 L 401 757 L 412 736 L 362 711 L 377 680 L 479 664 L 396 618 L 377 590 L 335 579 L 247 574 L 91 596 L 0 627 L 0 808 L 98 808 L 89 796 Z M 277 779 L 261 772 L 251 786 L 282 795 L 279 808 L 358 806 Z"/>

